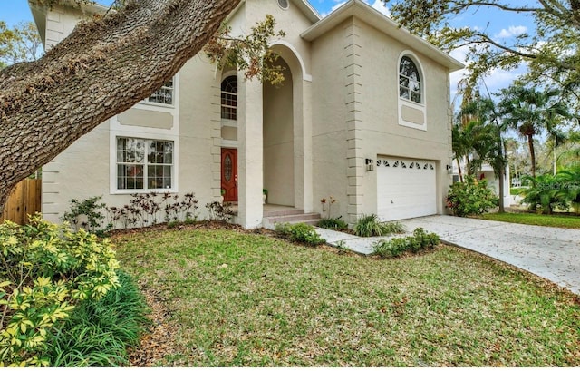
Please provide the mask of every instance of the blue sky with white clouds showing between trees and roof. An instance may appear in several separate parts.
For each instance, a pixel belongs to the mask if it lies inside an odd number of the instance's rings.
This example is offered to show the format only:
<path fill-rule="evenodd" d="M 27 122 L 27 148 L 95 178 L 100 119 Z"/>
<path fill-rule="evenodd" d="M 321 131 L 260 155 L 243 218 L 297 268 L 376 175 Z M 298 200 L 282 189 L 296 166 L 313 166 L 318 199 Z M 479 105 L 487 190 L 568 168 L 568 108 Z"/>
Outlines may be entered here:
<path fill-rule="evenodd" d="M 382 4 L 381 0 L 364 0 L 374 8 L 382 13 L 388 15 L 388 9 Z M 99 1 L 103 5 L 110 5 L 111 0 Z M 321 15 L 328 15 L 333 9 L 342 5 L 344 0 L 310 0 L 311 5 Z M 521 2 L 517 0 L 516 3 Z M 534 1 L 535 2 L 535 1 Z M 531 2 L 528 2 L 531 4 Z M 32 14 L 28 8 L 27 0 L 0 0 L 0 20 L 3 20 L 8 26 L 13 26 L 21 21 L 32 21 Z M 491 34 L 498 35 L 500 38 L 509 40 L 509 38 L 520 34 L 522 32 L 532 33 L 533 22 L 532 19 L 524 15 L 506 14 L 500 11 L 493 11 L 485 8 L 480 8 L 477 11 L 472 11 L 467 14 L 458 15 L 452 20 L 452 24 L 456 26 L 477 26 L 480 29 L 486 29 Z M 451 53 L 455 58 L 461 62 L 465 62 L 465 50 L 457 50 Z M 507 85 L 517 76 L 522 73 L 524 68 L 516 71 L 495 71 L 486 78 L 486 84 L 490 91 L 495 92 Z M 453 73 L 451 76 L 451 90 L 455 93 L 456 83 L 461 78 L 461 72 Z M 454 95 L 454 94 L 453 94 Z"/>

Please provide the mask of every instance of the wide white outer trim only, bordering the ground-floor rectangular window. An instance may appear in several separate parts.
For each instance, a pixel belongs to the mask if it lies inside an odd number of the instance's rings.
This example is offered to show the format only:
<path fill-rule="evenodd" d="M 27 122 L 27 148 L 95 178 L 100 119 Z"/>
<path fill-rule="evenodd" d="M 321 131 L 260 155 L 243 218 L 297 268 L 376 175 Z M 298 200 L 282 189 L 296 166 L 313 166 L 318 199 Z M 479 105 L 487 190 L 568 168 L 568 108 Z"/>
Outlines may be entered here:
<path fill-rule="evenodd" d="M 163 190 L 119 190 L 117 189 L 117 138 L 139 138 L 173 142 L 173 171 L 171 188 Z M 109 194 L 149 193 L 151 191 L 179 192 L 179 136 L 169 134 L 145 134 L 136 132 L 111 131 L 109 136 Z"/>

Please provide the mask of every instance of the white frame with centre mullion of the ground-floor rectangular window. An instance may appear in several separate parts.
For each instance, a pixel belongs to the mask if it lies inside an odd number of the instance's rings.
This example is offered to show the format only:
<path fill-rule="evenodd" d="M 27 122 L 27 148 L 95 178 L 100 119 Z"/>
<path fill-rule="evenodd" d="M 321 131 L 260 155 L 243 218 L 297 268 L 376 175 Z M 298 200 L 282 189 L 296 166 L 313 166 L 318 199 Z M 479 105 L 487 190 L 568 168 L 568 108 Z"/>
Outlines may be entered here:
<path fill-rule="evenodd" d="M 111 133 L 112 134 L 112 133 Z M 147 162 L 147 152 L 145 153 L 145 159 L 143 164 L 143 188 L 142 189 L 119 189 L 118 188 L 118 176 L 119 169 L 117 162 L 117 141 L 119 138 L 132 138 L 140 139 L 143 141 L 164 141 L 173 142 L 173 162 L 171 163 L 171 187 L 170 188 L 156 188 L 150 189 L 147 187 L 148 182 L 148 162 Z M 111 157 L 110 157 L 110 169 L 111 169 L 111 179 L 110 179 L 110 193 L 111 194 L 132 194 L 132 193 L 150 193 L 152 191 L 157 192 L 179 192 L 179 138 L 173 135 L 156 134 L 156 135 L 140 135 L 136 132 L 115 132 L 111 135 Z"/>

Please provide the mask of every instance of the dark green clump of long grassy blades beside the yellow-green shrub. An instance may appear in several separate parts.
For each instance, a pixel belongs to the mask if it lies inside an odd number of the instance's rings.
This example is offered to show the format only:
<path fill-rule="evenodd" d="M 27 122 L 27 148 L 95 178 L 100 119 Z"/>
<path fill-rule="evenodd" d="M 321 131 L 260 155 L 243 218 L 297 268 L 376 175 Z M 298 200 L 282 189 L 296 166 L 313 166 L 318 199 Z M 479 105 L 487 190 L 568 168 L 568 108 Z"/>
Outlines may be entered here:
<path fill-rule="evenodd" d="M 53 367 L 128 366 L 128 346 L 139 345 L 149 323 L 145 299 L 128 274 L 101 300 L 85 300 L 47 339 Z"/>

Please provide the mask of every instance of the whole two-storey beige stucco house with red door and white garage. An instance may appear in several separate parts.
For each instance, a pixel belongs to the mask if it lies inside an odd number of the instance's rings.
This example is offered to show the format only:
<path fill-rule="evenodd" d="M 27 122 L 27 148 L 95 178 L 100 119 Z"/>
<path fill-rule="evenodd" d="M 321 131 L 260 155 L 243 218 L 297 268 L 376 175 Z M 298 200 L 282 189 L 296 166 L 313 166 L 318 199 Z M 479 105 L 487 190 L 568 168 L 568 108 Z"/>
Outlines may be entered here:
<path fill-rule="evenodd" d="M 46 48 L 83 15 L 31 8 Z M 264 222 L 263 189 L 269 204 L 306 213 L 333 196 L 333 216 L 351 224 L 370 213 L 445 213 L 449 73 L 462 64 L 361 0 L 324 18 L 304 0 L 242 1 L 229 15 L 232 34 L 266 14 L 285 31 L 271 44 L 285 66 L 282 87 L 218 71 L 198 54 L 43 168 L 44 217 L 58 221 L 73 198 L 121 206 L 135 192 L 193 191 L 204 205 L 222 189 L 248 229 Z"/>

